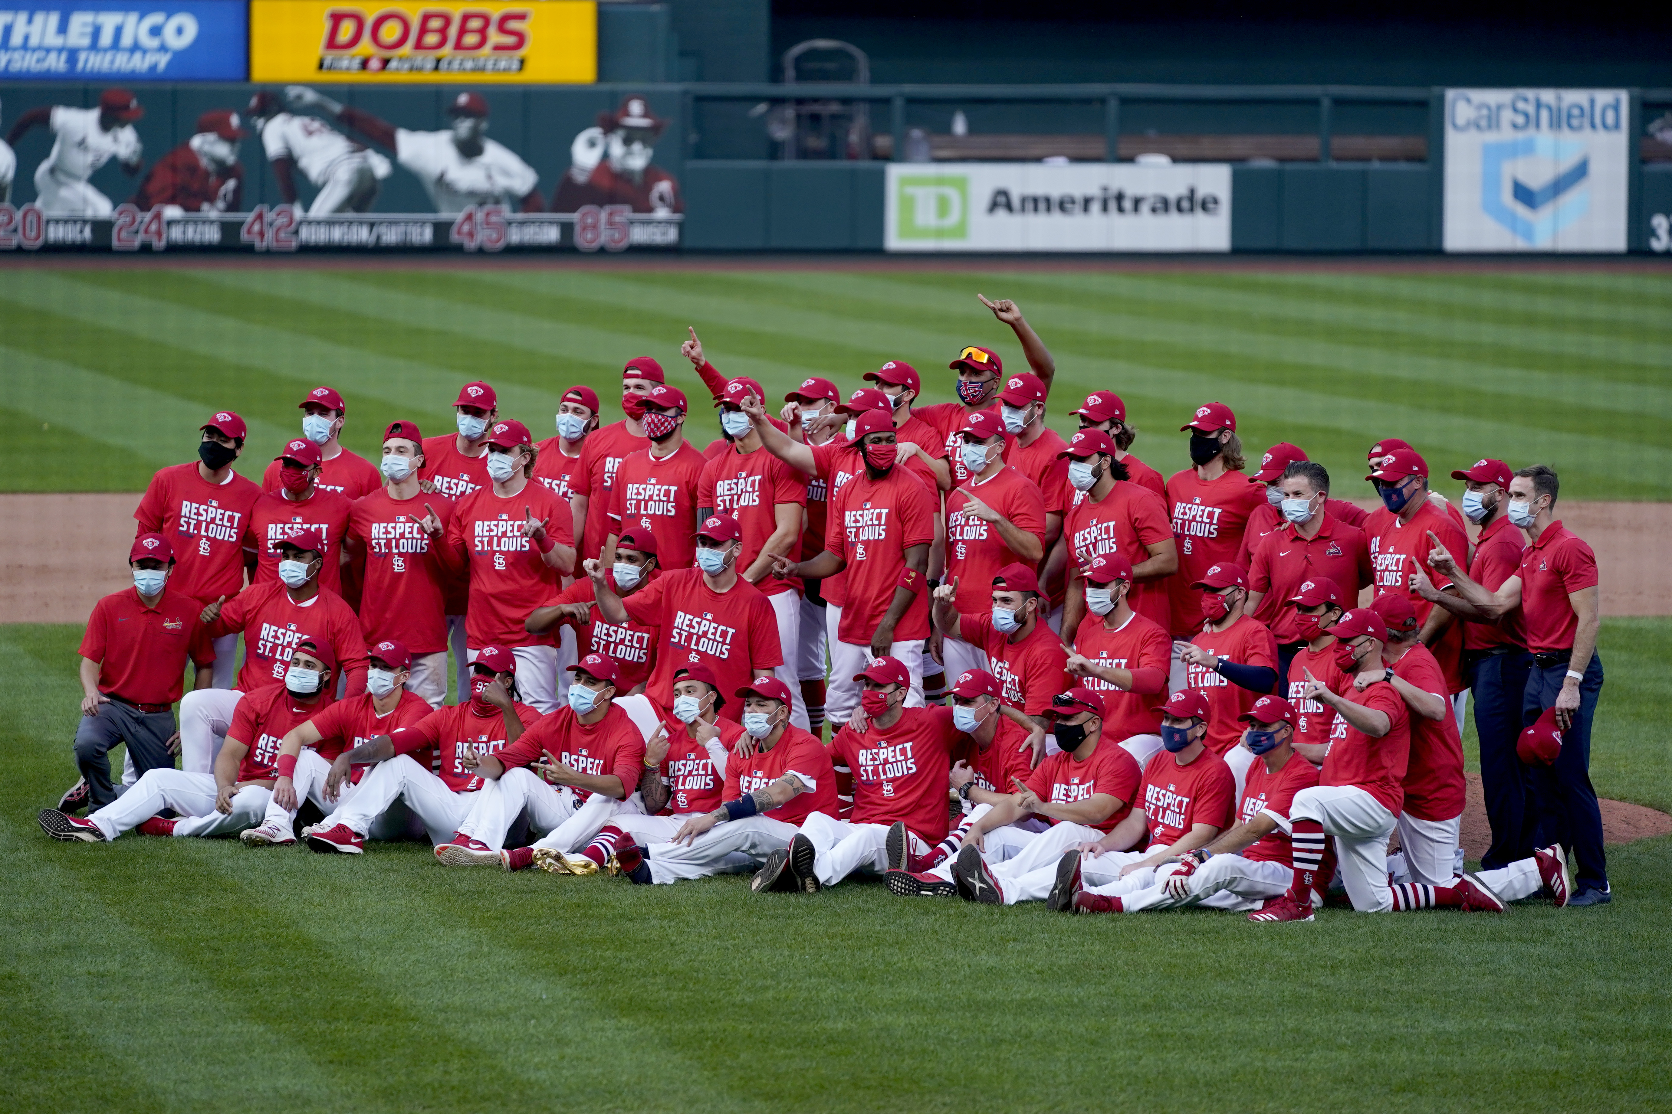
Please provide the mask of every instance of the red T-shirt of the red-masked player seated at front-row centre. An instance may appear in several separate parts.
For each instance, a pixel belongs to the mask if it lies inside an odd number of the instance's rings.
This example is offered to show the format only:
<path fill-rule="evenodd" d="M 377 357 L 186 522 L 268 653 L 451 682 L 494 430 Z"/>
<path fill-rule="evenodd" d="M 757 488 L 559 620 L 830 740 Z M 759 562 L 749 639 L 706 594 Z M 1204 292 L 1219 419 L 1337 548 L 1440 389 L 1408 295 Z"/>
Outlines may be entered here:
<path fill-rule="evenodd" d="M 876 720 L 831 740 L 838 775 L 853 777 L 853 823 L 905 825 L 925 843 L 946 838 L 946 773 L 963 732 L 951 708 L 905 708 L 893 727 Z"/>

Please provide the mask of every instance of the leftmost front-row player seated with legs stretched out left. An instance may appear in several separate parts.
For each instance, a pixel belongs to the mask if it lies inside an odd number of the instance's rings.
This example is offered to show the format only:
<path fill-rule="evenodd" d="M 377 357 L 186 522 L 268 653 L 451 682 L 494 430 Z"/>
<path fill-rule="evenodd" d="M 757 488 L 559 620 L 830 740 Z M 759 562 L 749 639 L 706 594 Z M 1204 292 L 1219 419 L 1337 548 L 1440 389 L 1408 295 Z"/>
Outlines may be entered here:
<path fill-rule="evenodd" d="M 42 830 L 55 840 L 100 843 L 130 828 L 144 835 L 209 837 L 256 827 L 273 797 L 279 740 L 331 706 L 334 671 L 329 641 L 303 635 L 284 683 L 268 685 L 239 701 L 214 773 L 161 767 L 85 820 L 57 808 L 43 810 Z M 162 818 L 164 810 L 174 810 L 179 818 Z"/>

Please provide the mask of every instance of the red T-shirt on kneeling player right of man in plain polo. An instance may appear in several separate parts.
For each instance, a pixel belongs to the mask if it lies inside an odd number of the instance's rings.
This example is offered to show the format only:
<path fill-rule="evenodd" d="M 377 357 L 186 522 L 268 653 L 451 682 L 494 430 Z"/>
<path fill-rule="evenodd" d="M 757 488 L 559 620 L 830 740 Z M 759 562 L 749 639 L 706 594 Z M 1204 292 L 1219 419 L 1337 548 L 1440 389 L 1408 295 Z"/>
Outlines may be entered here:
<path fill-rule="evenodd" d="M 336 655 L 338 675 L 348 678 L 346 695 L 366 691 L 366 638 L 359 631 L 359 616 L 328 588 L 304 603 L 294 603 L 284 585 L 251 585 L 221 606 L 221 615 L 209 625 L 209 638 L 244 635 L 244 665 L 237 670 L 237 690 L 252 693 L 257 688 L 284 681 L 291 666 L 291 653 L 303 638 L 324 638 Z M 333 690 L 336 685 L 331 685 Z"/>

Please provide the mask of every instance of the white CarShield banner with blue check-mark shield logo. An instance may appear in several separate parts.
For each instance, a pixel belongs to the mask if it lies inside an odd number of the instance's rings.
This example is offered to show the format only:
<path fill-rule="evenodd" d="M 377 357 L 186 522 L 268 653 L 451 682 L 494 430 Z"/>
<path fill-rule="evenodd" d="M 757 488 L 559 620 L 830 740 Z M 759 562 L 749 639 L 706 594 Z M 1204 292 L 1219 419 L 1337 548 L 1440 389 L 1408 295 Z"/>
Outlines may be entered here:
<path fill-rule="evenodd" d="M 1624 252 L 1624 89 L 1448 89 L 1448 252 Z"/>

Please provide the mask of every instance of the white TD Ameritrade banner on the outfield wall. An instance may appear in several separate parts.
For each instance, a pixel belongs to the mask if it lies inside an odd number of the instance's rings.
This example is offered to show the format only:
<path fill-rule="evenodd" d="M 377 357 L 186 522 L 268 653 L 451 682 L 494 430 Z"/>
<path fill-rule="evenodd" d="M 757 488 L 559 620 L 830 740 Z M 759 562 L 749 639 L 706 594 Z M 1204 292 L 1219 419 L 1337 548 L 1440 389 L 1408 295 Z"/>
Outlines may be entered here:
<path fill-rule="evenodd" d="M 1231 167 L 888 164 L 891 252 L 1229 252 Z"/>

